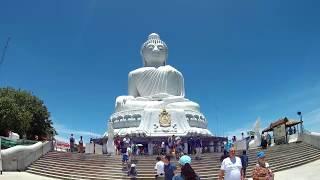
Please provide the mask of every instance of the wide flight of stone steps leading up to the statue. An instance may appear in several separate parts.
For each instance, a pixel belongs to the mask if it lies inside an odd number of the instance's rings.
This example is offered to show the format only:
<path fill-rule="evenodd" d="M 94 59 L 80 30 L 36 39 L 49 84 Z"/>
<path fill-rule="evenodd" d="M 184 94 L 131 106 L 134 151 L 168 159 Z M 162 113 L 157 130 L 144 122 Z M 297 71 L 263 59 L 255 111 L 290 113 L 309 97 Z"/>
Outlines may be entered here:
<path fill-rule="evenodd" d="M 248 151 L 247 177 L 256 164 L 256 152 Z M 320 159 L 320 150 L 305 143 L 291 143 L 271 147 L 266 160 L 274 172 L 296 167 Z M 216 179 L 220 169 L 221 153 L 207 153 L 202 160 L 193 160 L 192 167 L 201 179 Z M 154 179 L 156 156 L 137 157 L 138 179 Z M 174 160 L 174 163 L 177 162 Z M 49 152 L 28 167 L 27 172 L 57 179 L 128 179 L 122 170 L 121 157 L 94 154 Z"/>

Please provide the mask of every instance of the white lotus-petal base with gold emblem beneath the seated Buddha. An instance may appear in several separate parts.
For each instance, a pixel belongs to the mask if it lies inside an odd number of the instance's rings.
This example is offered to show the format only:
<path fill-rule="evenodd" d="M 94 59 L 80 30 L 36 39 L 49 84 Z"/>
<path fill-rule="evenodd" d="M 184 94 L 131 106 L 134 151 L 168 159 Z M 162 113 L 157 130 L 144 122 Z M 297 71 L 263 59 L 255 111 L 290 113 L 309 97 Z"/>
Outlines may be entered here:
<path fill-rule="evenodd" d="M 144 108 L 120 111 L 110 118 L 119 136 L 212 136 L 203 114 L 192 110 Z"/>

